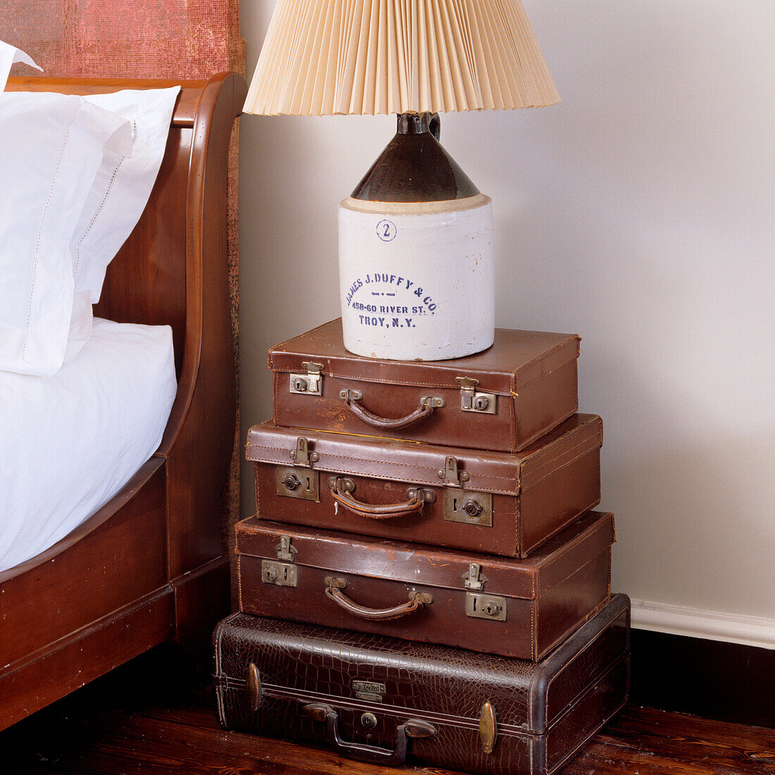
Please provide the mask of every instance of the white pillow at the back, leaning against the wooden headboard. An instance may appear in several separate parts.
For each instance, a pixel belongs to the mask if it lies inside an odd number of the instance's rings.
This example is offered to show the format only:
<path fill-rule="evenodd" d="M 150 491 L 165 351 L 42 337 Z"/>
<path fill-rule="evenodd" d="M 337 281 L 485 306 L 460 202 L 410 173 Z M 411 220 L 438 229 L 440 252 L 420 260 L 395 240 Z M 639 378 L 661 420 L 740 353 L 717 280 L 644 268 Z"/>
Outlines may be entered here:
<path fill-rule="evenodd" d="M 99 301 L 105 270 L 143 214 L 167 146 L 179 86 L 126 89 L 85 99 L 132 125 L 131 153 L 105 150 L 105 164 L 81 213 L 73 239 L 74 304 L 64 360 L 72 360 L 91 332 L 91 305 Z"/>

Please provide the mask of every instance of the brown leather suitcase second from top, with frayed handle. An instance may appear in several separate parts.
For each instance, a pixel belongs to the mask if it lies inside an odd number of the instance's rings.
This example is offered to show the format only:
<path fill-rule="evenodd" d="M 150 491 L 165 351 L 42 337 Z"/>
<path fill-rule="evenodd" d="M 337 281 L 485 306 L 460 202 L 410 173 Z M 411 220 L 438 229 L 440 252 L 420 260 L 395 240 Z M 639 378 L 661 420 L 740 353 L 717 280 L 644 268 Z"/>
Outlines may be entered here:
<path fill-rule="evenodd" d="M 525 557 L 600 502 L 602 441 L 596 415 L 573 415 L 521 453 L 265 422 L 246 455 L 261 518 Z"/>

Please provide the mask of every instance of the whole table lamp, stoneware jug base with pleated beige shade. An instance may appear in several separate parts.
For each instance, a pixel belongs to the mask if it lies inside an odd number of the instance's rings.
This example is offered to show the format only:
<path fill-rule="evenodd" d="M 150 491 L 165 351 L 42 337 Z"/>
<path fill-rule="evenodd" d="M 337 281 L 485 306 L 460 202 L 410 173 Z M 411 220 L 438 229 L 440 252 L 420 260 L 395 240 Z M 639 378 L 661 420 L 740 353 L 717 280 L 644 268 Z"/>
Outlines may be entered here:
<path fill-rule="evenodd" d="M 245 112 L 398 115 L 339 205 L 347 350 L 445 360 L 491 346 L 491 200 L 440 145 L 438 114 L 559 101 L 520 0 L 277 2 Z"/>

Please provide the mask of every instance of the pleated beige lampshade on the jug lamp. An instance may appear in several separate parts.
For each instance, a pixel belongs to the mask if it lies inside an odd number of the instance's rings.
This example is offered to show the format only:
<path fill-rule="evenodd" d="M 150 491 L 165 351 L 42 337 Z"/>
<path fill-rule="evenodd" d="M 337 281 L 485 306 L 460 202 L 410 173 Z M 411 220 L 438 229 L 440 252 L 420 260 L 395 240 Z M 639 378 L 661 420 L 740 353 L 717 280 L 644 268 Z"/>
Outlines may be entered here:
<path fill-rule="evenodd" d="M 279 0 L 245 112 L 400 114 L 556 102 L 520 0 Z"/>

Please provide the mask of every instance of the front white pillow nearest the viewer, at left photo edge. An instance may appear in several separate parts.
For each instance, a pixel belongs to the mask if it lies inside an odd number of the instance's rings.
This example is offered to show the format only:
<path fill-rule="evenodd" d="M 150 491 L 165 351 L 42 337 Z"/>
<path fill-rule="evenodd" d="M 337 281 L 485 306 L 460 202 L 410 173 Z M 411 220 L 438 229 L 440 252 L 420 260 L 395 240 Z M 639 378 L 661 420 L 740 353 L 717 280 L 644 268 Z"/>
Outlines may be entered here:
<path fill-rule="evenodd" d="M 81 97 L 0 93 L 0 369 L 48 376 L 73 307 L 70 243 L 103 164 L 131 130 Z"/>

